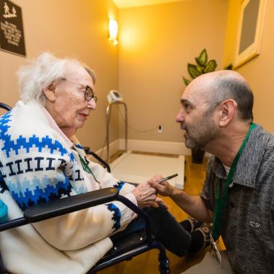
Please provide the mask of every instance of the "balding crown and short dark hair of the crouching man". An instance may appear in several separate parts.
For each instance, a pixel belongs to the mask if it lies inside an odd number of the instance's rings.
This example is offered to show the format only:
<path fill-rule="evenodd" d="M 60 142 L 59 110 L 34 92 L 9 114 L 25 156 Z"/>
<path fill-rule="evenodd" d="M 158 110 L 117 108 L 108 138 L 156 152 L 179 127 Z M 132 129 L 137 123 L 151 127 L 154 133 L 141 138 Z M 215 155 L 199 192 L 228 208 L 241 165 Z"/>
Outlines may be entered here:
<path fill-rule="evenodd" d="M 195 78 L 190 85 L 205 92 L 208 112 L 212 112 L 221 102 L 233 99 L 237 103 L 239 118 L 253 121 L 253 93 L 245 78 L 236 71 L 206 73 Z"/>

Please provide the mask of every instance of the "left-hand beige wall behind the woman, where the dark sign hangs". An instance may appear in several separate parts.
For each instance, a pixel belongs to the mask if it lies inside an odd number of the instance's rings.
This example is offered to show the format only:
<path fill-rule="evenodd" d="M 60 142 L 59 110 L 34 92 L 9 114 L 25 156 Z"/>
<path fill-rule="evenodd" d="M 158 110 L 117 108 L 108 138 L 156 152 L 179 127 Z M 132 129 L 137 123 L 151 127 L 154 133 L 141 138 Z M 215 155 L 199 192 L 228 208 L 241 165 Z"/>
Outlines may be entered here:
<path fill-rule="evenodd" d="M 118 49 L 108 40 L 108 17 L 118 10 L 111 0 L 14 0 L 23 11 L 27 58 L 42 51 L 74 56 L 86 62 L 97 74 L 97 110 L 92 112 L 84 129 L 77 132 L 83 145 L 93 150 L 105 140 L 106 95 L 118 88 Z M 19 99 L 16 77 L 26 59 L 0 51 L 0 101 L 14 105 Z M 114 116 L 111 140 L 118 138 Z"/>

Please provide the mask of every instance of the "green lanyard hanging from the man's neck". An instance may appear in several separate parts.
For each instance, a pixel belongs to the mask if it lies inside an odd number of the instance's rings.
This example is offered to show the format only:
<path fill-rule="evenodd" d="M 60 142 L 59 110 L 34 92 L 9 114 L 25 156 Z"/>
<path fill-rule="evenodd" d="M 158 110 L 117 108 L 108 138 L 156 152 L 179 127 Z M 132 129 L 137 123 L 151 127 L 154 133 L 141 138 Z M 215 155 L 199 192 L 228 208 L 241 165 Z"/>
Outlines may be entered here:
<path fill-rule="evenodd" d="M 233 175 L 236 171 L 236 166 L 240 158 L 240 154 L 242 153 L 243 149 L 245 148 L 245 145 L 247 144 L 247 140 L 249 138 L 251 130 L 254 129 L 255 127 L 256 127 L 256 124 L 251 123 L 249 127 L 249 132 L 247 133 L 245 140 L 242 142 L 242 145 L 240 146 L 240 149 L 232 162 L 231 169 L 228 173 L 227 180 L 225 182 L 225 188 L 223 190 L 222 197 L 220 197 L 220 186 L 219 186 L 219 179 L 218 179 L 216 201 L 215 201 L 215 208 L 214 208 L 214 218 L 213 218 L 213 229 L 212 229 L 212 237 L 214 240 L 217 240 L 220 236 L 221 224 L 223 222 L 223 213 L 225 212 L 225 206 L 227 204 L 227 199 L 228 199 L 228 187 L 232 183 Z"/>

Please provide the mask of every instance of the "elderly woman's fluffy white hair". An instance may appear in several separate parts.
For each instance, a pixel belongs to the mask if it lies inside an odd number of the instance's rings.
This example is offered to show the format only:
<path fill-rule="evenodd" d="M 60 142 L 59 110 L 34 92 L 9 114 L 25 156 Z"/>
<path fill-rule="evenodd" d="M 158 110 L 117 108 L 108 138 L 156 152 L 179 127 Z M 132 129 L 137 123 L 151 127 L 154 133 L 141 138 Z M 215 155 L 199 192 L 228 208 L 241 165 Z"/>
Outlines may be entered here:
<path fill-rule="evenodd" d="M 86 64 L 76 59 L 56 58 L 51 53 L 44 52 L 36 59 L 29 61 L 26 66 L 21 66 L 16 73 L 21 100 L 27 103 L 34 99 L 45 105 L 43 89 L 49 87 L 55 80 L 64 77 L 68 64 L 82 66 L 92 77 L 93 84 L 95 84 L 95 73 Z"/>

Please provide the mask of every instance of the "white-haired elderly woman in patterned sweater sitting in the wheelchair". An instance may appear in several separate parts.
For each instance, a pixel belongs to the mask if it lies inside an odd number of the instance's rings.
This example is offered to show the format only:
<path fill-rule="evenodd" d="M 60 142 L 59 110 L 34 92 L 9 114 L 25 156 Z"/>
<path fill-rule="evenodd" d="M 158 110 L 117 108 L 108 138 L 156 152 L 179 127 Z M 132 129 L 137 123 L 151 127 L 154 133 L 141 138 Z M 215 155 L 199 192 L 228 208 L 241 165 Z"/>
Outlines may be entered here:
<path fill-rule="evenodd" d="M 10 219 L 37 203 L 110 186 L 138 206 L 159 207 L 147 182 L 136 188 L 119 182 L 90 162 L 75 138 L 97 102 L 95 75 L 86 65 L 42 53 L 18 77 L 22 101 L 0 118 L 0 198 Z M 156 238 L 183 256 L 189 234 L 162 206 L 148 212 Z M 110 236 L 135 218 L 114 201 L 2 232 L 5 266 L 14 274 L 86 273 L 112 247 Z M 169 228 L 161 227 L 161 220 L 170 222 Z M 142 228 L 138 222 L 136 227 Z"/>

